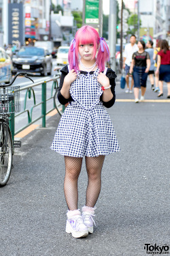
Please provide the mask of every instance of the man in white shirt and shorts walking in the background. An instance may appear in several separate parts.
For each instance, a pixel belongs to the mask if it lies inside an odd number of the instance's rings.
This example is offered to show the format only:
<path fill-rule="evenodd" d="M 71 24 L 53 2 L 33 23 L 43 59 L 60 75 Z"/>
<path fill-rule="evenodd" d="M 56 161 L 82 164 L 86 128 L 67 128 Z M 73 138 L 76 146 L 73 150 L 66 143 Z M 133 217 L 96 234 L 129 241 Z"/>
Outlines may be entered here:
<path fill-rule="evenodd" d="M 138 47 L 137 47 L 137 44 L 135 44 L 135 42 L 136 42 L 136 36 L 131 35 L 130 44 L 126 44 L 124 47 L 123 68 L 126 72 L 126 84 L 127 84 L 127 89 L 125 91 L 126 93 L 133 92 L 133 90 L 132 90 L 133 89 L 133 77 L 131 80 L 131 89 L 129 88 L 129 70 L 131 67 L 132 55 L 133 55 L 133 53 L 138 51 Z"/>

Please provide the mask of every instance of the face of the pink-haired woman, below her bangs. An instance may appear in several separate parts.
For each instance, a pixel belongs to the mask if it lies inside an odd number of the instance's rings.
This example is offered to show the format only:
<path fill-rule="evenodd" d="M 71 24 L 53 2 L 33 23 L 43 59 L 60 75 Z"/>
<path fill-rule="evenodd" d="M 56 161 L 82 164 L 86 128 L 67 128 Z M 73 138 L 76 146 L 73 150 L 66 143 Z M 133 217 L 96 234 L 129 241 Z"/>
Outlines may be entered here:
<path fill-rule="evenodd" d="M 94 55 L 94 45 L 91 44 L 80 44 L 78 47 L 80 57 L 86 61 L 90 61 Z"/>

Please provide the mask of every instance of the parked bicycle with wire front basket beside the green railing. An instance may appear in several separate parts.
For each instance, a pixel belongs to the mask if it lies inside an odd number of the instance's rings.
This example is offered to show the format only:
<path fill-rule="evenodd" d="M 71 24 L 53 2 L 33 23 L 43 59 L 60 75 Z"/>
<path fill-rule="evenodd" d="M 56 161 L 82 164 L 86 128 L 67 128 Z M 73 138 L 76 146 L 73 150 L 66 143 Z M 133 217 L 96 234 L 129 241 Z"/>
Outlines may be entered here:
<path fill-rule="evenodd" d="M 11 83 L 5 85 L 0 83 L 0 187 L 5 186 L 10 179 L 14 147 L 21 146 L 20 141 L 13 141 L 9 126 L 10 115 L 20 111 L 20 87 L 10 87 L 10 85 L 17 76 L 24 76 L 34 83 L 28 75 L 33 76 L 31 73 L 19 72 Z"/>

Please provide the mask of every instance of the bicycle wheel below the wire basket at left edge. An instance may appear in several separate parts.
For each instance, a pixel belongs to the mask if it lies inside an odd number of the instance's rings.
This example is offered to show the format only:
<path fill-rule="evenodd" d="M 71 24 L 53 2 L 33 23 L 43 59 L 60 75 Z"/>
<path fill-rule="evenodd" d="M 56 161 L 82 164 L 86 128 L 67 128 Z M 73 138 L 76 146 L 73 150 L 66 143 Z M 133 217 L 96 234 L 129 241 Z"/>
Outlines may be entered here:
<path fill-rule="evenodd" d="M 0 122 L 0 187 L 10 179 L 12 170 L 12 134 L 5 122 Z"/>

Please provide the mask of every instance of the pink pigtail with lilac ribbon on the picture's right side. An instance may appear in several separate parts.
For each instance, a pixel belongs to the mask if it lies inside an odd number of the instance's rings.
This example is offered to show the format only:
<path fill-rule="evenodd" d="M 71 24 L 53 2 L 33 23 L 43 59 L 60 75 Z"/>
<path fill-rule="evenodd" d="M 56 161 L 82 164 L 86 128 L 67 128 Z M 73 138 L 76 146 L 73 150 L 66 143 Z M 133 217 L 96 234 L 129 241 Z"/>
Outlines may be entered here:
<path fill-rule="evenodd" d="M 100 38 L 100 48 L 99 53 L 97 55 L 97 66 L 99 70 L 102 72 L 105 69 L 105 63 L 109 61 L 109 48 L 104 40 L 104 38 Z"/>

